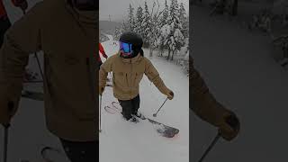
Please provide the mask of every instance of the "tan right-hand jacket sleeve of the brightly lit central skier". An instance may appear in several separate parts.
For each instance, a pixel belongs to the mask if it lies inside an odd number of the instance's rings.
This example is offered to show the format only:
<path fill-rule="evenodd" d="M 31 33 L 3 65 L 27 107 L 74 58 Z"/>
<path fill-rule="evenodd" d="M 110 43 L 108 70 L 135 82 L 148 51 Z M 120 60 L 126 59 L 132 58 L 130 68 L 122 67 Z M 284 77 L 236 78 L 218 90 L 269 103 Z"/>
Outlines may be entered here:
<path fill-rule="evenodd" d="M 157 72 L 157 69 L 152 65 L 151 61 L 146 59 L 146 65 L 145 65 L 145 75 L 148 76 L 148 79 L 153 82 L 154 85 L 158 88 L 158 90 L 162 94 L 169 93 L 169 89 L 164 84 L 163 80 L 161 79 L 159 73 Z"/>

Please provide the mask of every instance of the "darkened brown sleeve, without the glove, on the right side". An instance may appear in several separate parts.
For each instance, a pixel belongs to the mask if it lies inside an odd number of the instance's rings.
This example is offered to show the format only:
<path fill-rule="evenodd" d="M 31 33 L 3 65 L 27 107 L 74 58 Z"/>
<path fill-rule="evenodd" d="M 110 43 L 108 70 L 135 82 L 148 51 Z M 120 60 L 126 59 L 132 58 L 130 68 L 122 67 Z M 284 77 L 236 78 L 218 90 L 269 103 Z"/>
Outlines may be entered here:
<path fill-rule="evenodd" d="M 207 85 L 204 83 L 199 72 L 193 67 L 193 58 L 190 58 L 190 102 L 191 109 L 203 121 L 207 121 L 212 125 L 220 126 L 222 116 L 228 112 L 220 103 L 216 101 L 213 95 L 209 92 Z"/>

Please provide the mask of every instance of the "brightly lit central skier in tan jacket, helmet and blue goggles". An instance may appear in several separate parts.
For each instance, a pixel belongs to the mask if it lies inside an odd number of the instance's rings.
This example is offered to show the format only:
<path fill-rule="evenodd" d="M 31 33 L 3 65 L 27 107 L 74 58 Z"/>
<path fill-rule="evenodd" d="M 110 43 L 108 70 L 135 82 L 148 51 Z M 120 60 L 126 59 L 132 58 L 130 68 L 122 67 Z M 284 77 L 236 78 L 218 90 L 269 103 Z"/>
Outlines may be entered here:
<path fill-rule="evenodd" d="M 120 50 L 108 58 L 99 71 L 99 94 L 103 94 L 106 77 L 112 72 L 113 95 L 122 107 L 127 121 L 138 122 L 135 117 L 144 118 L 139 110 L 139 82 L 143 75 L 157 86 L 158 90 L 172 100 L 174 93 L 166 87 L 157 69 L 143 56 L 143 40 L 135 32 L 124 32 L 120 38 Z"/>

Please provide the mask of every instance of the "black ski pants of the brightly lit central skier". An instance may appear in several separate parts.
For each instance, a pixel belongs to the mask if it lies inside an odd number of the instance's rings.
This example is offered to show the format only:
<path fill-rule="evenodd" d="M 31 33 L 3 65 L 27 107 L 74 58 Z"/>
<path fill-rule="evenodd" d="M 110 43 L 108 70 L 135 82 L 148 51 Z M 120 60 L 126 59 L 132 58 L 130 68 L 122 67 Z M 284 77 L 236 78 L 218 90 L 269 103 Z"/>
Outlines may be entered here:
<path fill-rule="evenodd" d="M 138 112 L 140 106 L 140 97 L 139 94 L 131 100 L 118 100 L 122 107 L 122 115 L 126 120 L 130 120 L 132 114 Z"/>

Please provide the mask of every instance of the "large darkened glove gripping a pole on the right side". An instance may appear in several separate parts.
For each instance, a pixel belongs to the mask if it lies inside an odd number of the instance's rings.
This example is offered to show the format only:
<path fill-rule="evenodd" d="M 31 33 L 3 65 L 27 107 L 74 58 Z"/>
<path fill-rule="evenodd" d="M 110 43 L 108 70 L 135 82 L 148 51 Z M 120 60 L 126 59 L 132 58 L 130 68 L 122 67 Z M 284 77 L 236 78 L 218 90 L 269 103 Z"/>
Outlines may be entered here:
<path fill-rule="evenodd" d="M 221 119 L 219 132 L 223 139 L 235 139 L 240 130 L 240 122 L 234 112 L 224 112 Z"/>

